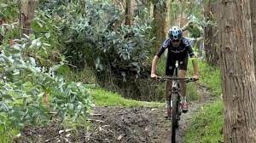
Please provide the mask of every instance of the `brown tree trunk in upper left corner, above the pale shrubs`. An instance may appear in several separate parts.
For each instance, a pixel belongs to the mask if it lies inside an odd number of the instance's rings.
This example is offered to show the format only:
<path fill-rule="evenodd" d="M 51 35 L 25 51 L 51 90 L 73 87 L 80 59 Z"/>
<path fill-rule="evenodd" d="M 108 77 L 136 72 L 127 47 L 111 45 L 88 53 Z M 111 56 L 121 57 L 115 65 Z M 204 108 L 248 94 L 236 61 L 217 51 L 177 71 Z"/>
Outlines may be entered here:
<path fill-rule="evenodd" d="M 22 34 L 29 35 L 32 32 L 31 20 L 34 18 L 37 2 L 37 0 L 21 1 L 20 27 L 22 29 Z"/>

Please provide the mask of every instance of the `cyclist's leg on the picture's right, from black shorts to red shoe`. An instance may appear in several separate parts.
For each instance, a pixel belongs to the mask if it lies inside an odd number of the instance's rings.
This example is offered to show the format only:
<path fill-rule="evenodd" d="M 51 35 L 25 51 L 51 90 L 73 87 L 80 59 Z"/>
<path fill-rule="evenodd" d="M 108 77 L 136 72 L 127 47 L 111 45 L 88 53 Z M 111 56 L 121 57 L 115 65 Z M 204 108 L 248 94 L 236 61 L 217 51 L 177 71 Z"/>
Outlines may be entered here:
<path fill-rule="evenodd" d="M 188 66 L 188 58 L 189 56 L 186 55 L 183 57 L 183 59 L 179 60 L 180 63 L 180 69 L 178 72 L 178 77 L 186 77 L 186 71 L 187 71 L 187 66 Z M 181 96 L 182 96 L 182 107 L 183 107 L 183 112 L 188 112 L 188 105 L 187 105 L 187 100 L 186 100 L 186 91 L 187 91 L 187 83 L 181 80 Z"/>

